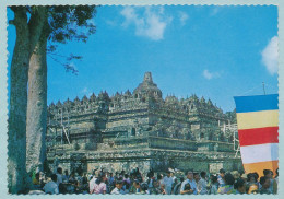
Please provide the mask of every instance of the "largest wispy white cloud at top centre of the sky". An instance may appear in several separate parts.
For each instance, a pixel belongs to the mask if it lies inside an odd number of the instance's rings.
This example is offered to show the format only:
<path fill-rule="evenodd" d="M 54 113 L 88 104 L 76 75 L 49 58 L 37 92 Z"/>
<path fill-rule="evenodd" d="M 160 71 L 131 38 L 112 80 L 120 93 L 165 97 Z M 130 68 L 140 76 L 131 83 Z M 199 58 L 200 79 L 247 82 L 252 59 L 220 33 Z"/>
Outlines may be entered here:
<path fill-rule="evenodd" d="M 171 22 L 171 17 L 165 16 L 163 8 L 154 10 L 146 7 L 141 15 L 138 13 L 137 8 L 126 7 L 120 14 L 125 16 L 123 27 L 133 24 L 135 26 L 135 35 L 149 37 L 153 40 L 163 39 L 165 30 Z"/>

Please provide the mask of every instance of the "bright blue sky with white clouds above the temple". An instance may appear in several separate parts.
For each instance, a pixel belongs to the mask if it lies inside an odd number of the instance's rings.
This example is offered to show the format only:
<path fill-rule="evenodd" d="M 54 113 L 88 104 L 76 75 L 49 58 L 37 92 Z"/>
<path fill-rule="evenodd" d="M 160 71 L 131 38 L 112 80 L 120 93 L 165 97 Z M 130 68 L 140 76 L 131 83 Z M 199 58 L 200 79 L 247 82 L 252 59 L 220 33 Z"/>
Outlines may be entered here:
<path fill-rule="evenodd" d="M 8 14 L 12 19 L 11 11 Z M 48 104 L 103 90 L 132 92 L 151 71 L 163 96 L 197 94 L 225 112 L 233 96 L 277 93 L 276 7 L 99 7 L 87 43 L 58 47 L 80 55 L 78 75 L 48 55 Z M 15 33 L 9 26 L 9 65 Z"/>

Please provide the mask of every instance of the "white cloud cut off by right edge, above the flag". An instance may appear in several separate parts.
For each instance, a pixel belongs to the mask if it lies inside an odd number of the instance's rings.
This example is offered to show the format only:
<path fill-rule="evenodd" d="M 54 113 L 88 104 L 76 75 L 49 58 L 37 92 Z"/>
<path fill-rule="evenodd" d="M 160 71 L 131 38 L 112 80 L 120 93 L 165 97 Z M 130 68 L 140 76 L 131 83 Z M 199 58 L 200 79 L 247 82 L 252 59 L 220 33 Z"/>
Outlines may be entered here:
<path fill-rule="evenodd" d="M 277 73 L 279 70 L 279 37 L 274 36 L 270 39 L 268 46 L 261 52 L 262 63 L 267 67 L 270 74 Z"/>

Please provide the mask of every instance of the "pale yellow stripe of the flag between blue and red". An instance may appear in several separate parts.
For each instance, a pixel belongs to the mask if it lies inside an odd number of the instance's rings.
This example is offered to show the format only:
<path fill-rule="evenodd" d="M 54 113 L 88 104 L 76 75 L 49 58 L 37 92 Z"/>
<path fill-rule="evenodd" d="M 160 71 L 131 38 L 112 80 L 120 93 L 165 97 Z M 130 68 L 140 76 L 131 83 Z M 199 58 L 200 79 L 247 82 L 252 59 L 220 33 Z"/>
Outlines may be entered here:
<path fill-rule="evenodd" d="M 255 129 L 279 126 L 279 110 L 249 112 L 237 114 L 238 129 Z"/>

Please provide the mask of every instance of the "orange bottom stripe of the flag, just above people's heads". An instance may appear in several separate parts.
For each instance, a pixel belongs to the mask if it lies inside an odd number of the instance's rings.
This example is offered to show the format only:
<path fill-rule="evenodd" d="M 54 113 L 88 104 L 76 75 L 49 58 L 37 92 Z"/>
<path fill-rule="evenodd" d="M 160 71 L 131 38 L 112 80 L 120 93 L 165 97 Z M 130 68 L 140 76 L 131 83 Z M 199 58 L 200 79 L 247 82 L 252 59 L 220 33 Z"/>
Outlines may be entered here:
<path fill-rule="evenodd" d="M 251 164 L 244 164 L 246 174 L 257 172 L 259 176 L 263 176 L 263 169 L 271 169 L 273 174 L 276 174 L 279 167 L 279 161 L 268 161 Z"/>

